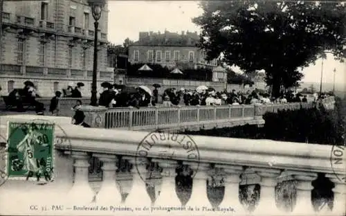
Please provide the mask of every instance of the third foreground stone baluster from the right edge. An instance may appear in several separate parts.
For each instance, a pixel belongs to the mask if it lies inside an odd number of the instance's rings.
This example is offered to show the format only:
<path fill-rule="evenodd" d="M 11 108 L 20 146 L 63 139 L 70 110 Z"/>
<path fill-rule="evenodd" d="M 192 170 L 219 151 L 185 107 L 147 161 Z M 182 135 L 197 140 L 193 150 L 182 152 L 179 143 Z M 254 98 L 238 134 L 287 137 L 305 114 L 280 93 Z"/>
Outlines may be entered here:
<path fill-rule="evenodd" d="M 277 185 L 280 170 L 256 168 L 255 172 L 261 177 L 260 201 L 255 209 L 255 215 L 263 215 L 268 211 L 273 215 L 279 215 L 280 210 L 277 209 L 275 204 L 275 186 Z"/>

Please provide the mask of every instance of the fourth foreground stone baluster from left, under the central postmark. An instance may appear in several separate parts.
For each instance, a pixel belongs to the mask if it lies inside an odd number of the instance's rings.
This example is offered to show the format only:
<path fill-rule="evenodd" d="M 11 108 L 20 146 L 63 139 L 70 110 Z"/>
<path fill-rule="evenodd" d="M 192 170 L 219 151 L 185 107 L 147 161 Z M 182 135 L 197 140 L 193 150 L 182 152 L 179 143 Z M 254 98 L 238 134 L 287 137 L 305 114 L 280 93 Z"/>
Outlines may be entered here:
<path fill-rule="evenodd" d="M 180 207 L 181 201 L 176 195 L 175 190 L 175 177 L 176 177 L 176 161 L 172 160 L 158 160 L 153 159 L 153 162 L 158 162 L 158 164 L 163 168 L 162 176 L 162 186 L 161 192 L 158 199 L 155 201 L 155 206 L 172 206 Z"/>

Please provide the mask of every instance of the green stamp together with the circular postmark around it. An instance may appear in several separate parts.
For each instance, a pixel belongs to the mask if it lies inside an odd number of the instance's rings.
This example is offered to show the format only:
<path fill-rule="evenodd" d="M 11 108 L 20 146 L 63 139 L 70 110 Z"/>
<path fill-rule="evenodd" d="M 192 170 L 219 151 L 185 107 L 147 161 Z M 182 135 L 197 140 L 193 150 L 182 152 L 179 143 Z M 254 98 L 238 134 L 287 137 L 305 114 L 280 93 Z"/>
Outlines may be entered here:
<path fill-rule="evenodd" d="M 64 129 L 44 119 L 10 120 L 7 129 L 7 139 L 1 136 L 0 186 L 8 179 L 34 179 L 39 185 L 54 181 L 55 148 L 71 151 Z M 56 129 L 62 135 L 56 136 Z"/>

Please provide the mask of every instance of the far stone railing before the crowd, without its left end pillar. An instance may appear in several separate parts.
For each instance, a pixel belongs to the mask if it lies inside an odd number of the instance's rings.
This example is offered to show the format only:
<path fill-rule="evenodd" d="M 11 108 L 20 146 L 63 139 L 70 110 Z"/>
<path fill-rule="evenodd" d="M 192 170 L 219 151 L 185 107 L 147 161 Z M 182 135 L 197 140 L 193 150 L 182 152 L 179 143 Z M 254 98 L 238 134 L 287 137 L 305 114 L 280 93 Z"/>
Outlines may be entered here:
<path fill-rule="evenodd" d="M 279 105 L 112 108 L 105 111 L 104 125 L 100 126 L 134 130 L 181 128 L 210 123 L 230 123 L 239 120 L 251 121 L 267 111 L 307 109 L 313 106 L 312 102 L 295 102 Z"/>

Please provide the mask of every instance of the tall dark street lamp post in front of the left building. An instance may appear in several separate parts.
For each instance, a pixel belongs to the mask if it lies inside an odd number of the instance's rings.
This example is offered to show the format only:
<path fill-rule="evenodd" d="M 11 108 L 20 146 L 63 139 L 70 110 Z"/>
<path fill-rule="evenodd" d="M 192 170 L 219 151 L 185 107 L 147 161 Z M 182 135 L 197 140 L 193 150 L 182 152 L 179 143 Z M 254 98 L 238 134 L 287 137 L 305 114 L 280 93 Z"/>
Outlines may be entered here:
<path fill-rule="evenodd" d="M 101 17 L 102 8 L 104 7 L 104 0 L 89 0 L 89 6 L 91 7 L 91 12 L 93 14 L 93 19 L 95 19 L 94 30 L 95 36 L 93 40 L 93 82 L 91 84 L 91 106 L 98 106 L 97 98 L 97 79 L 98 79 L 98 20 Z"/>

